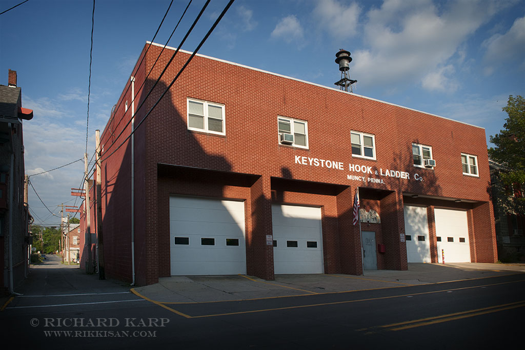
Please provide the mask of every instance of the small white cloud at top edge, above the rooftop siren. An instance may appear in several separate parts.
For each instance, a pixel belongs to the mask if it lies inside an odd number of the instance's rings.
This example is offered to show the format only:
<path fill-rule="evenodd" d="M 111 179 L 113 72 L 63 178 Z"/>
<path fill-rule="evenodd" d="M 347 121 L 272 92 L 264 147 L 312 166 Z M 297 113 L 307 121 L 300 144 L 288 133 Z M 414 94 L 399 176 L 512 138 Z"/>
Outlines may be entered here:
<path fill-rule="evenodd" d="M 361 8 L 357 3 L 345 6 L 337 0 L 321 0 L 313 10 L 316 22 L 339 39 L 357 34 L 360 13 Z"/>

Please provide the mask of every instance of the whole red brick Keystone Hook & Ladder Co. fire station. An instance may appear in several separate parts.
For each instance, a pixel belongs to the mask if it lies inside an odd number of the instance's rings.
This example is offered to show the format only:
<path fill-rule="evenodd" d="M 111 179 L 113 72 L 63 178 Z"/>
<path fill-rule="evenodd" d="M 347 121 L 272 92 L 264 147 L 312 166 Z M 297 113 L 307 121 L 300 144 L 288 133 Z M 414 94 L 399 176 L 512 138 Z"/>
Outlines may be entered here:
<path fill-rule="evenodd" d="M 160 99 L 190 54 L 154 87 L 148 47 L 101 136 L 109 277 L 497 260 L 484 129 L 201 55 Z"/>

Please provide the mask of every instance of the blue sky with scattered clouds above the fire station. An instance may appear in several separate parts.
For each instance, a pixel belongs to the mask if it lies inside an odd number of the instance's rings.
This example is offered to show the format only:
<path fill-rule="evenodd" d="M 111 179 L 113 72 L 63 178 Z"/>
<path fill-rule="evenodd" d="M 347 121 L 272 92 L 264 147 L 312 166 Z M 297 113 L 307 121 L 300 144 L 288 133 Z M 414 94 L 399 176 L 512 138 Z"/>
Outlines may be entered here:
<path fill-rule="evenodd" d="M 22 0 L 1 0 L 0 12 Z M 155 42 L 165 44 L 188 0 L 175 0 Z M 183 49 L 193 51 L 227 0 L 213 0 Z M 97 0 L 88 153 L 104 129 L 145 41 L 170 0 Z M 169 46 L 204 4 L 194 0 Z M 86 149 L 92 1 L 29 0 L 0 15 L 0 84 L 18 72 L 26 173 L 75 161 Z M 340 79 L 335 52 L 351 51 L 354 93 L 482 126 L 502 128 L 510 94 L 525 95 L 525 0 L 236 0 L 200 54 L 328 87 Z M 213 69 L 213 68 L 212 68 Z M 205 73 L 205 72 L 204 72 Z M 77 162 L 30 178 L 53 213 L 80 204 Z M 57 224 L 29 189 L 36 223 Z"/>

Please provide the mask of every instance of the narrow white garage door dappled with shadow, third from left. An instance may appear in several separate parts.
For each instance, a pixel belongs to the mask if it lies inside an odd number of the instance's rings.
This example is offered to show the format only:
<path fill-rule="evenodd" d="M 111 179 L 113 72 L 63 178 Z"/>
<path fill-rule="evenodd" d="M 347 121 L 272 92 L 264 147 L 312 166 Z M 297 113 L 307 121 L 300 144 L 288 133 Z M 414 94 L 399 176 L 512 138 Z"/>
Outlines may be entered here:
<path fill-rule="evenodd" d="M 408 262 L 430 262 L 426 207 L 405 205 L 405 241 Z"/>

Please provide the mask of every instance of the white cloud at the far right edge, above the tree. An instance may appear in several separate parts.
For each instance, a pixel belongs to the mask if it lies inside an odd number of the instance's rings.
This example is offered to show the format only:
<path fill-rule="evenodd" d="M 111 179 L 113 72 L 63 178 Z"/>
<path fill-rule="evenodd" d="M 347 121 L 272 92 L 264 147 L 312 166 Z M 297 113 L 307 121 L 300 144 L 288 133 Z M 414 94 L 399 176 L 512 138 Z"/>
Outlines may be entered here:
<path fill-rule="evenodd" d="M 518 61 L 525 68 L 525 17 L 514 20 L 512 27 L 505 34 L 495 34 L 485 40 L 485 61 L 489 65 L 499 65 L 509 61 Z M 487 72 L 492 72 L 488 69 Z"/>

